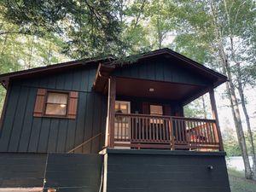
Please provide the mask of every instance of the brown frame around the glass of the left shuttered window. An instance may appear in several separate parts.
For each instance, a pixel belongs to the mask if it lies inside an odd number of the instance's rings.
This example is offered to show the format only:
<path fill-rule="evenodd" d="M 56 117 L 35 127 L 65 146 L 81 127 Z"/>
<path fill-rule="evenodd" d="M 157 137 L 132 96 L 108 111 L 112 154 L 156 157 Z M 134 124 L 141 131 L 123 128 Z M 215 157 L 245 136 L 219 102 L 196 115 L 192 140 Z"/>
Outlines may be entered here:
<path fill-rule="evenodd" d="M 48 96 L 49 93 L 62 93 L 62 94 L 67 94 L 67 105 L 66 105 L 66 114 L 47 114 L 46 113 L 46 106 L 49 102 L 47 102 L 48 100 Z M 69 108 L 69 101 L 70 101 L 70 91 L 67 90 L 46 90 L 46 95 L 44 98 L 44 113 L 43 113 L 43 117 L 52 117 L 52 118 L 67 118 L 68 115 L 68 108 Z"/>

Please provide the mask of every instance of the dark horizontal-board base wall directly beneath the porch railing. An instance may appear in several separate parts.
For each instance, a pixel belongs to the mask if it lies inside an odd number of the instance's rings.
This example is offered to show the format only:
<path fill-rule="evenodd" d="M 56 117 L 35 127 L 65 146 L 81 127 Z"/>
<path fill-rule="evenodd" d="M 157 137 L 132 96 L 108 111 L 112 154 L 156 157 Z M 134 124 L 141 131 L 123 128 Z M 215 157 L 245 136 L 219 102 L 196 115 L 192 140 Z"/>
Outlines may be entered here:
<path fill-rule="evenodd" d="M 230 192 L 224 153 L 108 149 L 105 155 L 109 192 Z"/>

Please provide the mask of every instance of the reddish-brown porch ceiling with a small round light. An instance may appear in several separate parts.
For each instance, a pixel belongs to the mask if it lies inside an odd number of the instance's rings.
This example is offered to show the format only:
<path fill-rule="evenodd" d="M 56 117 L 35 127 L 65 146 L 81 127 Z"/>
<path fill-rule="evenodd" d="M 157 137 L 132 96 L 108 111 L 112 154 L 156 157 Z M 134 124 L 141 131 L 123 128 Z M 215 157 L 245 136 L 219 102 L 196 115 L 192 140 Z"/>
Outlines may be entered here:
<path fill-rule="evenodd" d="M 154 91 L 149 91 L 152 88 Z M 186 104 L 194 100 L 199 93 L 205 92 L 205 90 L 207 90 L 207 87 L 195 84 L 116 78 L 116 94 L 121 96 L 167 99 Z"/>

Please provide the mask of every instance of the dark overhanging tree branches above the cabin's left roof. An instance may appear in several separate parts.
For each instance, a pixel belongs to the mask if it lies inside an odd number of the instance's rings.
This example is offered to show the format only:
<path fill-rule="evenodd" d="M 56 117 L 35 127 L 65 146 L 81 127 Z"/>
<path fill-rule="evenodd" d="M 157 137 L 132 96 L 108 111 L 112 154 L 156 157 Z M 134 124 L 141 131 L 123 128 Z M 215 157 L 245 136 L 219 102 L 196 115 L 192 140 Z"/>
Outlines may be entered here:
<path fill-rule="evenodd" d="M 118 3 L 101 0 L 4 1 L 4 18 L 20 32 L 58 34 L 73 58 L 121 55 Z"/>

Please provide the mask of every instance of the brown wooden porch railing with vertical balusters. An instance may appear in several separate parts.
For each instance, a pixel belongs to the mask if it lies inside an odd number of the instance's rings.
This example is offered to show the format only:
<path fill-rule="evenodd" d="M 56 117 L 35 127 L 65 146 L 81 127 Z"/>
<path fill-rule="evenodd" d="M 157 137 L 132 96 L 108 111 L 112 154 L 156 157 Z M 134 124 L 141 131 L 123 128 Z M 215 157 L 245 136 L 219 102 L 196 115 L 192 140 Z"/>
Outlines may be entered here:
<path fill-rule="evenodd" d="M 115 113 L 114 147 L 219 149 L 214 119 Z"/>

